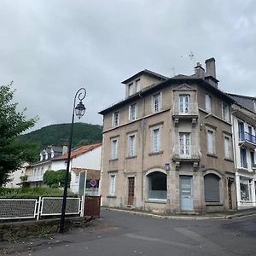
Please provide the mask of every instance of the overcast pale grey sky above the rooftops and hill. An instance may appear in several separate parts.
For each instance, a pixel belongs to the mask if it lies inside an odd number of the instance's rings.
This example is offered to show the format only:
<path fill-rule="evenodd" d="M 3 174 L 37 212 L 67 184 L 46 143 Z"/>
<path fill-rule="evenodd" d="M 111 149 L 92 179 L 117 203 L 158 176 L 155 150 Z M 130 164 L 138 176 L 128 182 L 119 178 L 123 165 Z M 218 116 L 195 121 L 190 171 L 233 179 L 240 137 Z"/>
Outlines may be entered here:
<path fill-rule="evenodd" d="M 256 1 L 0 0 L 0 84 L 14 80 L 36 129 L 70 122 L 81 86 L 81 120 L 102 125 L 132 74 L 192 74 L 210 57 L 221 90 L 256 96 Z"/>

